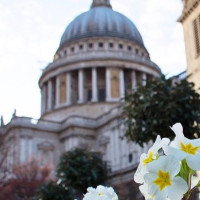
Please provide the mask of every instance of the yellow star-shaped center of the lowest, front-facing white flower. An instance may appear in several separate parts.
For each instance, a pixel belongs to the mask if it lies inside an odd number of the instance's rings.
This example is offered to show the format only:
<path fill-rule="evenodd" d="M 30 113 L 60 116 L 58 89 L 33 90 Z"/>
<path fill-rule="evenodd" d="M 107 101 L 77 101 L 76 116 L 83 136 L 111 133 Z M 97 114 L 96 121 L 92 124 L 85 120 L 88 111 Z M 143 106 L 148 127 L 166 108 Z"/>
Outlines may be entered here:
<path fill-rule="evenodd" d="M 171 185 L 171 179 L 169 172 L 163 172 L 162 170 L 158 171 L 158 177 L 153 181 L 155 183 L 160 191 L 162 191 L 165 187 Z"/>

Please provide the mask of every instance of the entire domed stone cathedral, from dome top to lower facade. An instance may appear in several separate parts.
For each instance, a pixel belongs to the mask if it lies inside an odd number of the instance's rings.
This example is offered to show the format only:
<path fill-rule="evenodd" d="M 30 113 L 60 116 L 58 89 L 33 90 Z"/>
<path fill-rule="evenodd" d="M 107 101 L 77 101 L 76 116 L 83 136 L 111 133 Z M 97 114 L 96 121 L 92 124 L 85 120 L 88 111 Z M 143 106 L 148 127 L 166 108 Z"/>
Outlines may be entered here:
<path fill-rule="evenodd" d="M 56 165 L 75 147 L 100 151 L 111 168 L 110 183 L 123 199 L 137 199 L 133 175 L 147 146 L 124 138 L 121 105 L 129 89 L 160 73 L 133 22 L 109 0 L 93 0 L 68 25 L 40 77 L 40 119 L 14 115 L 0 127 L 15 152 L 8 164 L 37 155 Z"/>

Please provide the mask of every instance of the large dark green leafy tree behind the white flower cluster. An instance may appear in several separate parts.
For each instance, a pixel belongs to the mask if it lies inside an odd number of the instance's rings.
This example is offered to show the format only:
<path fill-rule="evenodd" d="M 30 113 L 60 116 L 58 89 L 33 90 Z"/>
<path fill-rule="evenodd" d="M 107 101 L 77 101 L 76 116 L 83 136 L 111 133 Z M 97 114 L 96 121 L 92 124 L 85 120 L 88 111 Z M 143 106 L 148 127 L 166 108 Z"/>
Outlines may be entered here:
<path fill-rule="evenodd" d="M 127 95 L 125 102 L 125 135 L 140 145 L 158 134 L 172 139 L 170 126 L 176 122 L 183 125 L 186 137 L 200 136 L 200 95 L 187 80 L 173 82 L 165 76 L 149 80 Z"/>

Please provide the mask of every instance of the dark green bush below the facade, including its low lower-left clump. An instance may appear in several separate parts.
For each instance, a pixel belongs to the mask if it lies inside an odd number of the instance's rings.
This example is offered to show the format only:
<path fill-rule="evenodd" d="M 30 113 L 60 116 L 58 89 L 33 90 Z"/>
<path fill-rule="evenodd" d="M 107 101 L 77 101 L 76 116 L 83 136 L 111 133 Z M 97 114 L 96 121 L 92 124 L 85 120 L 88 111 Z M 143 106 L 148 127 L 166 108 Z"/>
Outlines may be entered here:
<path fill-rule="evenodd" d="M 57 183 L 40 187 L 32 200 L 82 199 L 89 186 L 105 183 L 107 170 L 99 153 L 75 149 L 61 156 L 56 176 Z"/>

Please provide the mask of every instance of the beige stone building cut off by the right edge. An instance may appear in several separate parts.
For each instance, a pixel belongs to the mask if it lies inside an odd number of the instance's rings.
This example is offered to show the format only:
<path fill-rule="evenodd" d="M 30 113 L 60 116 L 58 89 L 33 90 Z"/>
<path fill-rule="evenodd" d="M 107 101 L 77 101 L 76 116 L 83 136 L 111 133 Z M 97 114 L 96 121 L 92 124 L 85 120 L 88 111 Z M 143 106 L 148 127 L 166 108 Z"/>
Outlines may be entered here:
<path fill-rule="evenodd" d="M 183 25 L 187 74 L 189 80 L 200 87 L 200 1 L 182 0 L 183 11 L 179 22 Z"/>

